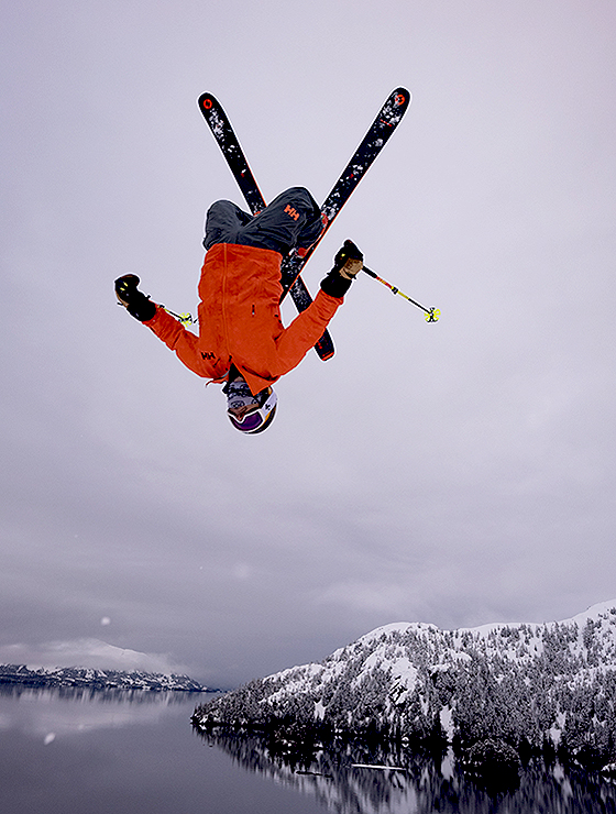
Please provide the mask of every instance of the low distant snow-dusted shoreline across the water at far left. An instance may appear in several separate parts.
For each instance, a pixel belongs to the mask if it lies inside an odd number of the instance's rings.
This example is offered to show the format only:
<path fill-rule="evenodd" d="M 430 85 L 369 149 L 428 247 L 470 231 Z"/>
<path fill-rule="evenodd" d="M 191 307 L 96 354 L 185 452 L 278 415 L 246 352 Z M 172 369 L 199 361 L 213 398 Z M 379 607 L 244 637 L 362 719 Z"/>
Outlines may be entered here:
<path fill-rule="evenodd" d="M 73 686 L 92 690 L 151 690 L 155 692 L 207 692 L 188 675 L 163 675 L 140 670 L 97 670 L 84 667 L 29 669 L 24 664 L 0 664 L 0 686 Z"/>

